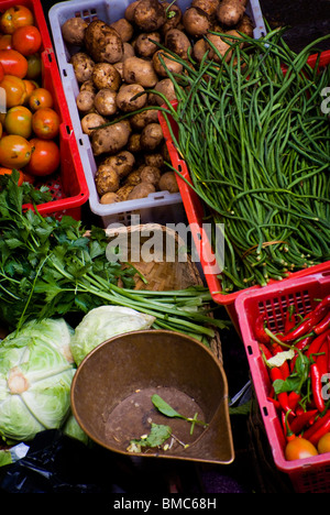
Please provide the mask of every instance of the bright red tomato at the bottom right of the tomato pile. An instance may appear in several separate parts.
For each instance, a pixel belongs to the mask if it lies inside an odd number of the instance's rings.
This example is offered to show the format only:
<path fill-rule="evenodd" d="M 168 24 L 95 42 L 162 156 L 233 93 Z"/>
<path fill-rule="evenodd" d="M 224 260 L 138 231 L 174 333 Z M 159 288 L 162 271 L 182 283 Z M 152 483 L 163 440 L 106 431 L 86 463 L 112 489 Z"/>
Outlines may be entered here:
<path fill-rule="evenodd" d="M 59 166 L 61 154 L 58 145 L 52 140 L 33 138 L 30 140 L 31 160 L 25 166 L 28 174 L 44 176 L 53 174 Z"/>

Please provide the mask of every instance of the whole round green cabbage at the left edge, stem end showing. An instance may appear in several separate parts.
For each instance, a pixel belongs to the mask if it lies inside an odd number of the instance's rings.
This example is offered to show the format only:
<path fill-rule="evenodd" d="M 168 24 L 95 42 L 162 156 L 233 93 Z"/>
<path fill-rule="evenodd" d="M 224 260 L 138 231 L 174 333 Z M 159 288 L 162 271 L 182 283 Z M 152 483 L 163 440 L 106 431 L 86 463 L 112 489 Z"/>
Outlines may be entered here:
<path fill-rule="evenodd" d="M 75 364 L 64 319 L 32 320 L 0 344 L 0 435 L 30 440 L 59 428 L 70 408 Z"/>

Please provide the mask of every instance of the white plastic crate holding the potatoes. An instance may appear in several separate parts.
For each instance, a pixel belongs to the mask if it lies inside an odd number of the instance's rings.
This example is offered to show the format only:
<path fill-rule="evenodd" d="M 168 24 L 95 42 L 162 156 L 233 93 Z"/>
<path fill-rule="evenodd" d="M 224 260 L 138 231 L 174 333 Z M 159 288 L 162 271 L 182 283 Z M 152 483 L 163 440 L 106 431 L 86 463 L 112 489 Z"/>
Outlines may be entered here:
<path fill-rule="evenodd" d="M 80 17 L 87 21 L 92 21 L 98 18 L 107 23 L 113 23 L 123 17 L 127 7 L 132 3 L 132 1 L 133 0 L 70 0 L 56 3 L 48 12 L 58 68 L 89 188 L 90 210 L 102 218 L 105 227 L 117 222 L 128 224 L 131 222 L 132 215 L 139 215 L 142 223 L 147 223 L 150 221 L 169 223 L 184 221 L 186 219 L 179 193 L 169 194 L 168 191 L 157 191 L 139 200 L 102 205 L 99 201 L 99 195 L 95 185 L 97 165 L 89 138 L 87 134 L 84 134 L 81 130 L 80 118 L 76 107 L 79 86 L 75 77 L 74 68 L 69 64 L 70 53 L 73 54 L 75 48 L 67 48 L 62 37 L 61 28 L 66 20 L 74 17 Z M 176 3 L 182 10 L 185 10 L 191 4 L 191 0 L 177 0 Z M 249 1 L 246 13 L 255 25 L 254 37 L 262 36 L 263 33 L 265 33 L 265 26 L 258 0 Z M 78 51 L 78 48 L 76 51 Z"/>

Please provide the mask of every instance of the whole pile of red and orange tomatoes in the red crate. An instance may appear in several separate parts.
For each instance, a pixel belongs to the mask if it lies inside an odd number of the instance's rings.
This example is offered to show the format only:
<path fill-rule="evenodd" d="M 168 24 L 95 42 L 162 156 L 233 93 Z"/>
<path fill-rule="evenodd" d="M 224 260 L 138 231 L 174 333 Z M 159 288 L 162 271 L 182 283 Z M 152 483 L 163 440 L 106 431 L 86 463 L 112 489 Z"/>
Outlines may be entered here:
<path fill-rule="evenodd" d="M 59 117 L 42 87 L 42 36 L 32 11 L 12 6 L 0 14 L 0 174 L 20 183 L 47 176 L 59 165 Z M 2 112 L 6 111 L 6 112 Z"/>

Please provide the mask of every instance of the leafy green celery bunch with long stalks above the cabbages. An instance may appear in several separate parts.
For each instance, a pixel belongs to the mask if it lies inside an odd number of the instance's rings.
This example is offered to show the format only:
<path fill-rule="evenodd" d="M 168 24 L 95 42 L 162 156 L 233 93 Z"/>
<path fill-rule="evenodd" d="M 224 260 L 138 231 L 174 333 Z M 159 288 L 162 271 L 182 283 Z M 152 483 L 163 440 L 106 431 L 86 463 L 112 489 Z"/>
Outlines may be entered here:
<path fill-rule="evenodd" d="M 81 221 L 42 217 L 36 205 L 44 201 L 47 188 L 19 187 L 15 173 L 0 177 L 0 318 L 9 329 L 106 304 L 153 315 L 154 328 L 200 339 L 213 336 L 210 326 L 227 327 L 209 316 L 206 288 L 135 291 L 134 266 L 107 259 L 103 229 L 91 227 L 86 238 Z M 26 204 L 34 209 L 23 209 Z"/>

